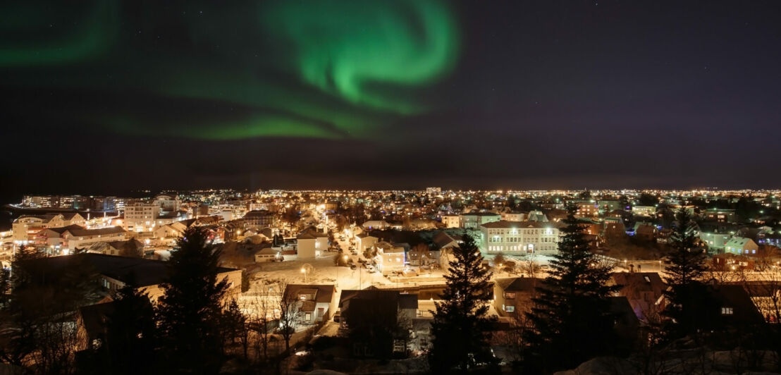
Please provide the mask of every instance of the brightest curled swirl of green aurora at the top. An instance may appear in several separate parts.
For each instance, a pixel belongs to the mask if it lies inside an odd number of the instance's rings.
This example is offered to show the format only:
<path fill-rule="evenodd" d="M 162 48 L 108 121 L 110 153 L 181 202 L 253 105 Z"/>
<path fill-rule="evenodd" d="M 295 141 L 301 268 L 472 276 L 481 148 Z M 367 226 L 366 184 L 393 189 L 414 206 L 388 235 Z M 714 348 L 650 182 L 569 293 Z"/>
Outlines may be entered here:
<path fill-rule="evenodd" d="M 369 85 L 426 84 L 455 62 L 455 25 L 439 3 L 280 2 L 263 19 L 297 47 L 293 63 L 303 79 L 361 105 L 419 111 Z"/>

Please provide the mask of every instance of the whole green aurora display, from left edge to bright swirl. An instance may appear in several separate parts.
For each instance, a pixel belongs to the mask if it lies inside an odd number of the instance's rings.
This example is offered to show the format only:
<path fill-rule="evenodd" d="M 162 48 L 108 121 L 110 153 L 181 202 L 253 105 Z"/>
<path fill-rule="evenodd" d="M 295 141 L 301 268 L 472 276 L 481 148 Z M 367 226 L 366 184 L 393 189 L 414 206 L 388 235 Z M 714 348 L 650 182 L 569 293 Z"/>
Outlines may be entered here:
<path fill-rule="evenodd" d="M 177 3 L 178 4 L 178 3 Z M 248 11 L 248 9 L 254 9 Z M 6 85 L 80 90 L 58 116 L 123 134 L 369 137 L 426 112 L 458 61 L 443 2 L 0 5 Z M 142 99 L 139 99 L 142 98 Z"/>

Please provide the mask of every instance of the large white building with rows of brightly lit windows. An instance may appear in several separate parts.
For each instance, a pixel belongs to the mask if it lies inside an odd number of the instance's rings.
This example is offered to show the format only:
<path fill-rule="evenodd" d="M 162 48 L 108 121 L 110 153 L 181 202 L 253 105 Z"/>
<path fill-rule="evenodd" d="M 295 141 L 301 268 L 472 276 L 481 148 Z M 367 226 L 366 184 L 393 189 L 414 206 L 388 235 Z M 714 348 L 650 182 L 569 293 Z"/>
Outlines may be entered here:
<path fill-rule="evenodd" d="M 543 253 L 558 251 L 561 223 L 539 221 L 495 221 L 480 226 L 483 251 L 509 254 Z"/>

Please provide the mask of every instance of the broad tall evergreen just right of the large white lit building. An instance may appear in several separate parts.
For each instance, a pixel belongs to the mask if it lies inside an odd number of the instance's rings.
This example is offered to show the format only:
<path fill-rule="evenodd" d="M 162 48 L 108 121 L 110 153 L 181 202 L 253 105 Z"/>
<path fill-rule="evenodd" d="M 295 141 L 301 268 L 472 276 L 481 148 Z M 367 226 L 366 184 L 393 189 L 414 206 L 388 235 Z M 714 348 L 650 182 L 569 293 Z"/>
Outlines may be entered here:
<path fill-rule="evenodd" d="M 616 342 L 608 296 L 618 287 L 607 285 L 612 266 L 589 252 L 576 207 L 568 211 L 551 270 L 526 313 L 533 329 L 524 332 L 530 345 L 524 359 L 534 372 L 578 366 L 612 352 Z"/>

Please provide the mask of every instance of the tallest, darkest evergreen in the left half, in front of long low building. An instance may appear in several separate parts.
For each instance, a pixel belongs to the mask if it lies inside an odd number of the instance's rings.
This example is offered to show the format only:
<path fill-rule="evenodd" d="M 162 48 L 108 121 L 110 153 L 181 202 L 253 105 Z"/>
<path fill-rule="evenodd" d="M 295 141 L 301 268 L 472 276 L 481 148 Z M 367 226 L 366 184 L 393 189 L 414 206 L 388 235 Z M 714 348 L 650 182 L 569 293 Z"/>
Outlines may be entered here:
<path fill-rule="evenodd" d="M 219 251 L 197 227 L 187 229 L 177 247 L 159 300 L 164 363 L 171 372 L 217 373 L 223 363 L 219 322 L 227 289 L 226 280 L 216 280 Z"/>

